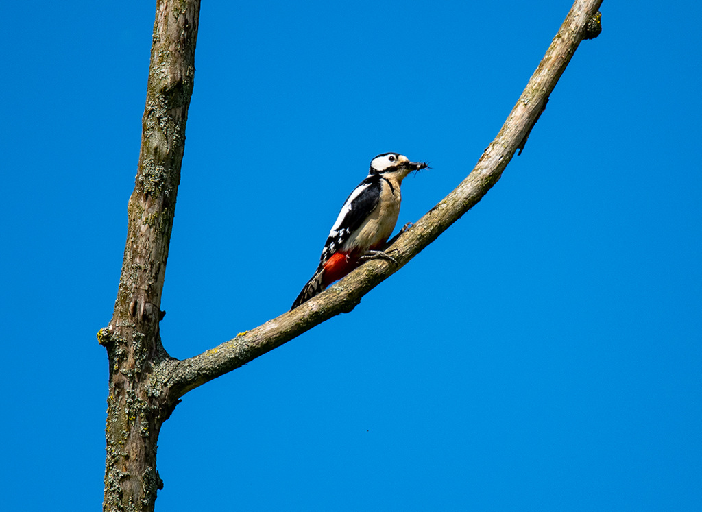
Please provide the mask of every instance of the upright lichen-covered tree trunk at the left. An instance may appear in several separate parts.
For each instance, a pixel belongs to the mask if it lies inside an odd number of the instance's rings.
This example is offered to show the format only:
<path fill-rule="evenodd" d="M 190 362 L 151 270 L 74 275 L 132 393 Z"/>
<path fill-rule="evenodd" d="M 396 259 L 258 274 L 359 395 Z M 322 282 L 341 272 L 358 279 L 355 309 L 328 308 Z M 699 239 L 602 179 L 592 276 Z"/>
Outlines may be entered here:
<path fill-rule="evenodd" d="M 185 122 L 194 78 L 199 0 L 158 0 L 138 171 L 117 301 L 98 339 L 107 348 L 105 511 L 152 511 L 163 487 L 156 471 L 161 424 L 176 401 L 150 385 L 168 360 L 159 321 Z"/>

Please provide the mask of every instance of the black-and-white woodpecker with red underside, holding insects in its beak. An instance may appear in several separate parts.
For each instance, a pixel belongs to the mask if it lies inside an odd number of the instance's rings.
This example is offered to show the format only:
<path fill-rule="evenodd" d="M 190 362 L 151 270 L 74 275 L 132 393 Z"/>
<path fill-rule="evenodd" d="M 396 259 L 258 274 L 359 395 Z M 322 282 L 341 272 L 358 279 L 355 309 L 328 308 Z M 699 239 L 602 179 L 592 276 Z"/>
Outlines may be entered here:
<path fill-rule="evenodd" d="M 397 223 L 402 199 L 400 185 L 411 171 L 426 166 L 423 162 L 410 162 L 397 153 L 383 153 L 371 160 L 368 176 L 341 207 L 319 257 L 317 271 L 300 291 L 291 310 L 324 291 L 366 259 L 392 260 L 380 249 Z"/>

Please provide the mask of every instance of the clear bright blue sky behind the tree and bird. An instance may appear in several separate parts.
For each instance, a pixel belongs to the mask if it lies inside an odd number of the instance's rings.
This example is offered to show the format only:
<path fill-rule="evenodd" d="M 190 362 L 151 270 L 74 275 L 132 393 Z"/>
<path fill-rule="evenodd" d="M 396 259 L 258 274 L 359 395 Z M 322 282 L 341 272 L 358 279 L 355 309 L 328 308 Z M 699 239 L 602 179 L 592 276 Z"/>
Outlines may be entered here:
<path fill-rule="evenodd" d="M 472 169 L 571 3 L 204 1 L 162 322 L 189 357 L 289 308 L 388 151 L 399 224 Z M 605 1 L 502 180 L 401 272 L 189 393 L 160 511 L 699 511 L 698 1 Z M 98 510 L 154 2 L 10 2 L 0 501 Z"/>

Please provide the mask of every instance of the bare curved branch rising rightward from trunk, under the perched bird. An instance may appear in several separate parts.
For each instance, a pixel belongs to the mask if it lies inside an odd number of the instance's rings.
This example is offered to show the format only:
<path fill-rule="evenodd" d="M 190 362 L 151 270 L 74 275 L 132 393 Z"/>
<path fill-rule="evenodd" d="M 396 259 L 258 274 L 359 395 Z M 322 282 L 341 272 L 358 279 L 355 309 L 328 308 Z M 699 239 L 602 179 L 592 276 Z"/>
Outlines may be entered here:
<path fill-rule="evenodd" d="M 580 42 L 599 34 L 600 17 L 595 14 L 601 4 L 602 0 L 576 0 L 522 96 L 475 169 L 388 249 L 397 259 L 397 265 L 385 261 L 365 263 L 295 310 L 195 357 L 164 362 L 163 367 L 154 373 L 154 388 L 160 388 L 168 400 L 176 400 L 187 391 L 241 367 L 317 324 L 339 313 L 350 312 L 362 296 L 397 272 L 461 218 L 500 179 L 515 151 L 524 146 Z"/>

